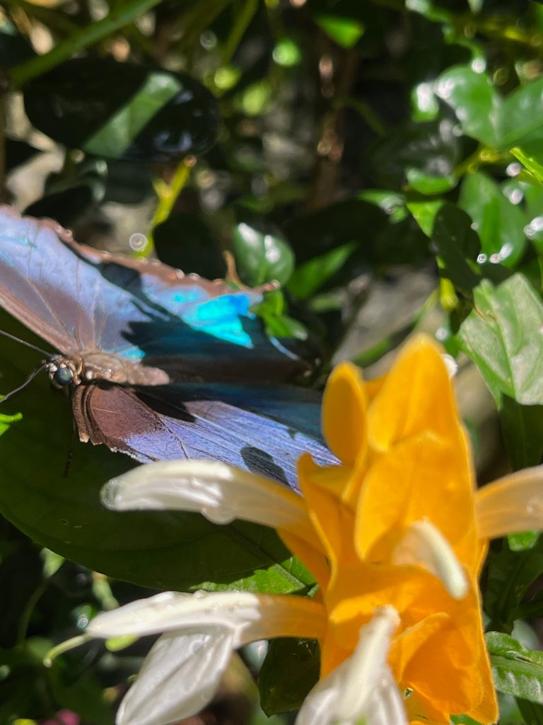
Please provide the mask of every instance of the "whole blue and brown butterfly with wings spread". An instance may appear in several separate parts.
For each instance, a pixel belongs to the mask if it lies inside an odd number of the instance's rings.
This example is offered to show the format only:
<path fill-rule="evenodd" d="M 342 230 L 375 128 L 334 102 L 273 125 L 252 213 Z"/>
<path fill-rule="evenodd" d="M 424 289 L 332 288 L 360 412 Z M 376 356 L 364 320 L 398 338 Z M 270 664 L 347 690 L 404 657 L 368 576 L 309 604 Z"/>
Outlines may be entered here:
<path fill-rule="evenodd" d="M 99 252 L 0 207 L 0 305 L 56 350 L 42 367 L 80 439 L 141 462 L 211 458 L 294 487 L 301 452 L 334 462 L 318 394 L 277 384 L 303 361 L 251 312 L 263 292 Z"/>

